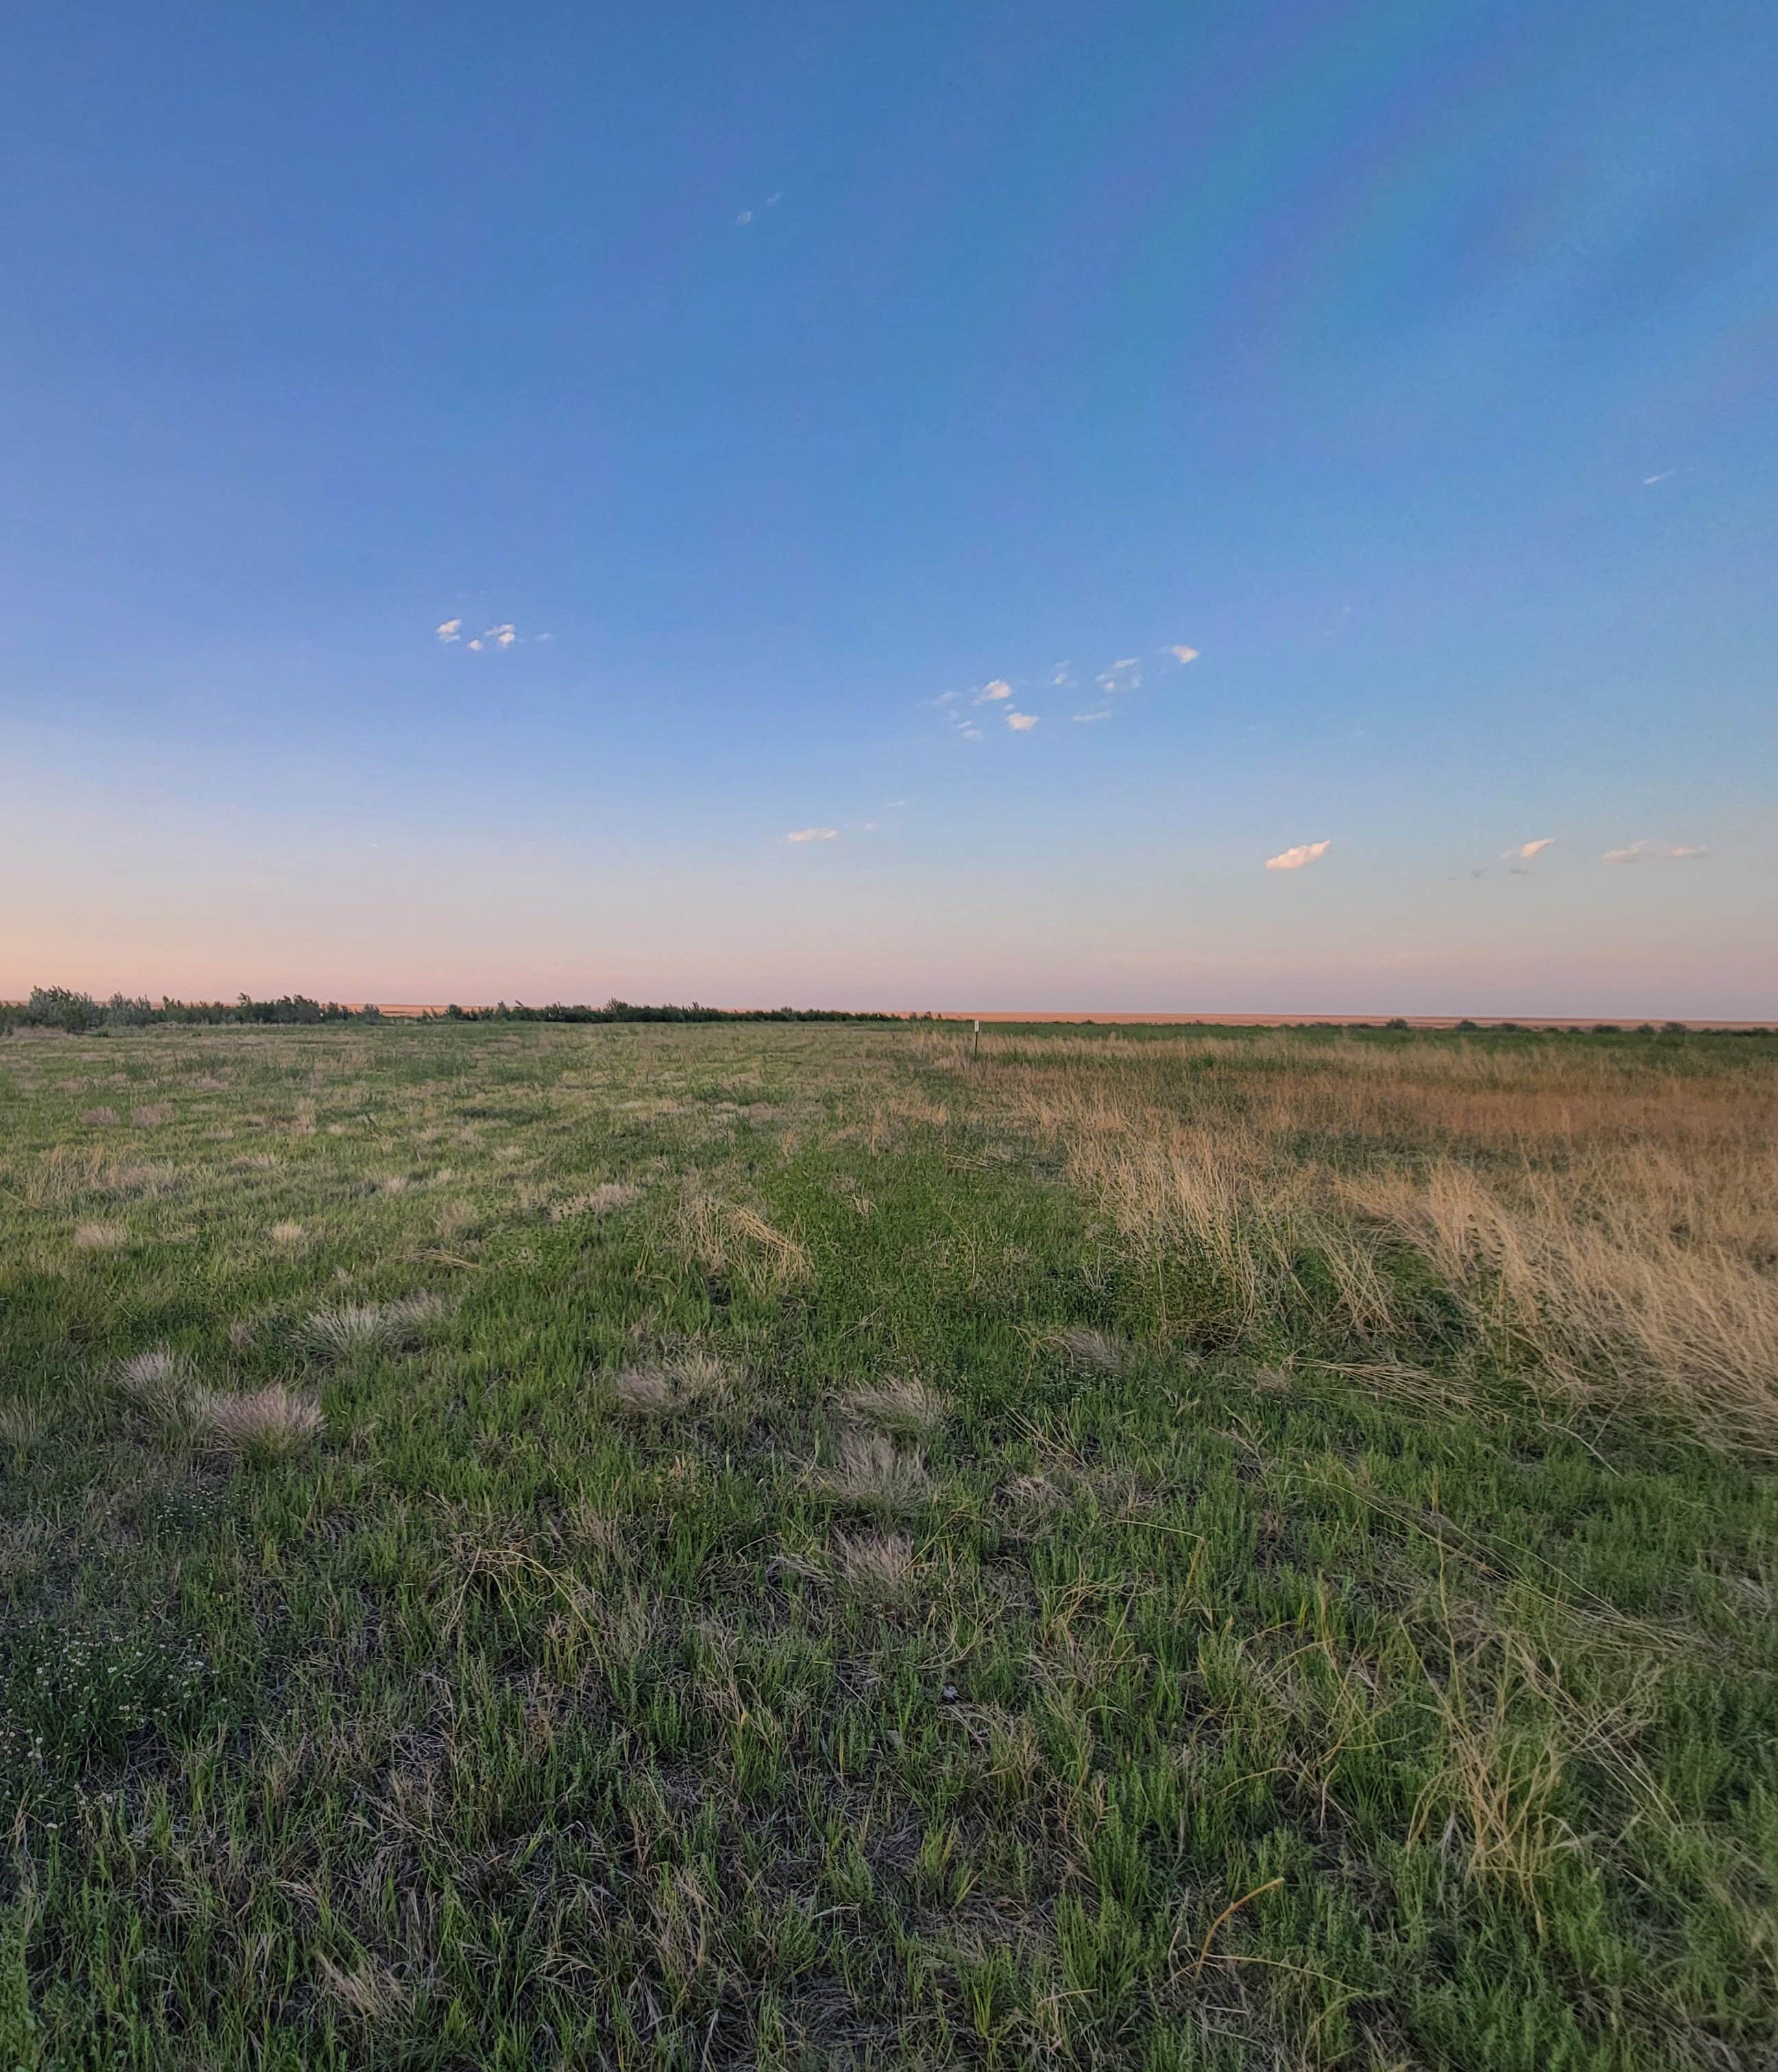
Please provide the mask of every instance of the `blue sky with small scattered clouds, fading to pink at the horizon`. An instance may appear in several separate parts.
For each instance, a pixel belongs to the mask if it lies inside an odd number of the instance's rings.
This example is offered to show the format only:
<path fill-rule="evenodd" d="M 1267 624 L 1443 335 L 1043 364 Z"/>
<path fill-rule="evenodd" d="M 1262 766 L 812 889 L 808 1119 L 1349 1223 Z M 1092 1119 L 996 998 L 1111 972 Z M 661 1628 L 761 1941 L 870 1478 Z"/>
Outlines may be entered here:
<path fill-rule="evenodd" d="M 1778 10 L 0 70 L 0 997 L 1778 1019 Z"/>

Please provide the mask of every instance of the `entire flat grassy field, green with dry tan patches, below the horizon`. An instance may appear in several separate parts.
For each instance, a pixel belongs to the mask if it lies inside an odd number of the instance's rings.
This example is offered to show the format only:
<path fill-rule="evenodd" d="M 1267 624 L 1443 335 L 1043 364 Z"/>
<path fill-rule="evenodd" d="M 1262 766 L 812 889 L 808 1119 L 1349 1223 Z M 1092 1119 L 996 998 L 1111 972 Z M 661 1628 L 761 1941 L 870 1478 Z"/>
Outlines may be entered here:
<path fill-rule="evenodd" d="M 0 1044 L 0 2066 L 1778 2064 L 1778 1042 Z"/>

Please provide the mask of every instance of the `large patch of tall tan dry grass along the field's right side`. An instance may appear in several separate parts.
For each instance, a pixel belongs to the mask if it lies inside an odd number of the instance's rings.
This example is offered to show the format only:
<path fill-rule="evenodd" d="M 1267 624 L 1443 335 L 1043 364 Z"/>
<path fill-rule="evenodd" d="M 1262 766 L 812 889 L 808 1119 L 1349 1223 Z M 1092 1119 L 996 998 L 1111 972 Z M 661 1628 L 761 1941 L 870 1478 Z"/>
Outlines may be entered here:
<path fill-rule="evenodd" d="M 1245 1324 L 1314 1276 L 1388 1351 L 1411 1260 L 1478 1347 L 1778 1450 L 1778 1080 L 1759 1059 L 1100 1038 L 1007 1046 L 980 1082 L 1138 1256 L 1210 1270 Z"/>

